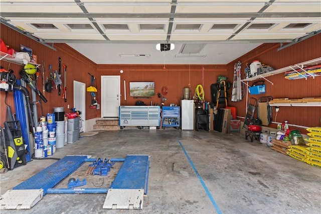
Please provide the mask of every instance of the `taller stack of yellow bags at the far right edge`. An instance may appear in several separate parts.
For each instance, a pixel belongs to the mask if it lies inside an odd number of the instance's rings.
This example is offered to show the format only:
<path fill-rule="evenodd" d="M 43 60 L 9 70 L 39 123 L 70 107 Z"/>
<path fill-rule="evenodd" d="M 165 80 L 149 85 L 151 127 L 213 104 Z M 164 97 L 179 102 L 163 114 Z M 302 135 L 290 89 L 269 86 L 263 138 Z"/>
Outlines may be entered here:
<path fill-rule="evenodd" d="M 321 168 L 321 127 L 313 127 L 306 129 L 309 133 L 307 135 L 310 138 L 304 139 L 308 143 L 306 148 L 306 159 L 305 162 Z"/>

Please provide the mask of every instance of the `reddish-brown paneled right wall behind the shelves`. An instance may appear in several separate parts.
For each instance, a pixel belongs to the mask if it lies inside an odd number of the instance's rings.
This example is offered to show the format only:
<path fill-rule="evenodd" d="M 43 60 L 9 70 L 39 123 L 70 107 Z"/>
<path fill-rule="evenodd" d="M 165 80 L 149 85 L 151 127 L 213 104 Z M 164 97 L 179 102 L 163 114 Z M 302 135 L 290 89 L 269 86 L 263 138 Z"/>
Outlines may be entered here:
<path fill-rule="evenodd" d="M 263 44 L 251 52 L 235 59 L 227 65 L 229 79 L 233 79 L 234 63 L 242 62 L 242 78 L 244 78 L 244 68 L 246 63 L 251 64 L 253 60 L 259 60 L 262 64 L 270 65 L 274 69 L 294 65 L 296 63 L 308 61 L 321 57 L 321 34 L 315 35 L 309 39 L 299 42 L 295 45 L 289 46 L 285 49 L 277 51 L 280 44 Z M 321 97 L 321 76 L 297 80 L 287 80 L 284 74 L 277 74 L 267 77 L 268 80 L 273 82 L 273 85 L 265 81 L 264 94 L 250 95 L 259 99 L 262 96 L 272 96 L 273 98 L 290 99 L 303 98 L 303 97 Z M 264 79 L 259 79 L 264 80 Z M 254 81 L 250 81 L 251 85 Z M 229 105 L 237 107 L 237 115 L 245 117 L 246 113 L 246 97 L 239 102 L 229 101 Z M 273 108 L 272 118 L 275 121 L 275 108 Z M 276 122 L 288 121 L 289 124 L 299 126 L 314 127 L 321 126 L 321 107 L 290 107 L 280 106 L 279 112 L 276 117 Z M 276 128 L 276 124 L 270 125 Z M 291 129 L 296 129 L 292 128 Z M 301 132 L 305 132 L 299 129 Z"/>

